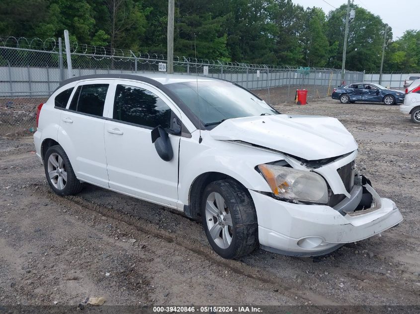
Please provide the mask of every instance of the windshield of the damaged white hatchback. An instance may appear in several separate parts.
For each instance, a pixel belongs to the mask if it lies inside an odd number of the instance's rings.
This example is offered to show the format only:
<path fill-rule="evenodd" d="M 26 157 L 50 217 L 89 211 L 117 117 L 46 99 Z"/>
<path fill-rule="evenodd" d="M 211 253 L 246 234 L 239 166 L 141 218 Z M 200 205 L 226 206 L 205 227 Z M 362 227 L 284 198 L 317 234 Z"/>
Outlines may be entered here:
<path fill-rule="evenodd" d="M 197 82 L 172 83 L 166 87 L 200 118 L 204 126 L 232 118 L 279 114 L 265 101 L 230 82 L 198 82 L 198 97 Z"/>

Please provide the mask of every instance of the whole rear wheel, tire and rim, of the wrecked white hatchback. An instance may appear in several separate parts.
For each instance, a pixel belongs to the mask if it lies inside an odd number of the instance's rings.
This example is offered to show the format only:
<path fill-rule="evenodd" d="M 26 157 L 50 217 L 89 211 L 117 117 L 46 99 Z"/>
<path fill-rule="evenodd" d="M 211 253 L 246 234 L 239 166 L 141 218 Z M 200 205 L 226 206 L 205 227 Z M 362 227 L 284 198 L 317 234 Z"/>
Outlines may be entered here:
<path fill-rule="evenodd" d="M 48 148 L 44 169 L 48 184 L 56 194 L 72 195 L 82 190 L 82 183 L 76 178 L 69 157 L 60 145 Z"/>

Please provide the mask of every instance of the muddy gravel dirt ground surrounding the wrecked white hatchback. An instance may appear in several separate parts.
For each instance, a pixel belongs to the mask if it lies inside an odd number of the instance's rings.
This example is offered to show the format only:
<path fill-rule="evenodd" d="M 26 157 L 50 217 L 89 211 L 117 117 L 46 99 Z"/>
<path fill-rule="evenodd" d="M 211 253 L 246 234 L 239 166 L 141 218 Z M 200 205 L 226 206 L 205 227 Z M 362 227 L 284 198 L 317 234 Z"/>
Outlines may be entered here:
<path fill-rule="evenodd" d="M 359 144 L 357 168 L 405 220 L 323 257 L 258 249 L 225 260 L 200 224 L 162 206 L 90 185 L 56 196 L 32 138 L 3 138 L 0 304 L 103 296 L 106 305 L 419 305 L 420 126 L 398 106 L 271 102 L 282 113 L 338 118 Z"/>

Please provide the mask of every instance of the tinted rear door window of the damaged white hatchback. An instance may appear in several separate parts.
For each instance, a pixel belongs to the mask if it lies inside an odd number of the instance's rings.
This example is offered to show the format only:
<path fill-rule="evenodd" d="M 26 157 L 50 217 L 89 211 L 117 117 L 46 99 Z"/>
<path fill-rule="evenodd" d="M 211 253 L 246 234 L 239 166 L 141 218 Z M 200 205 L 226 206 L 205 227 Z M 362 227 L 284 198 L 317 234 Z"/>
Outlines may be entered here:
<path fill-rule="evenodd" d="M 69 109 L 102 117 L 108 86 L 108 84 L 79 86 L 73 96 Z"/>

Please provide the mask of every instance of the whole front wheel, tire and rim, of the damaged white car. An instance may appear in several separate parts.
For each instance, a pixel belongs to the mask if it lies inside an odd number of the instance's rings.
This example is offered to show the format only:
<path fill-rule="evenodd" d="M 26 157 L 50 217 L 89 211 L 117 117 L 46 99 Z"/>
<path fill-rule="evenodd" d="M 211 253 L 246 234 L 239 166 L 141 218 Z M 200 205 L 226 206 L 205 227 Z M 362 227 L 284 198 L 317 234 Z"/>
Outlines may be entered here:
<path fill-rule="evenodd" d="M 201 199 L 207 239 L 224 258 L 247 255 L 258 246 L 258 223 L 248 191 L 234 180 L 210 183 Z"/>

